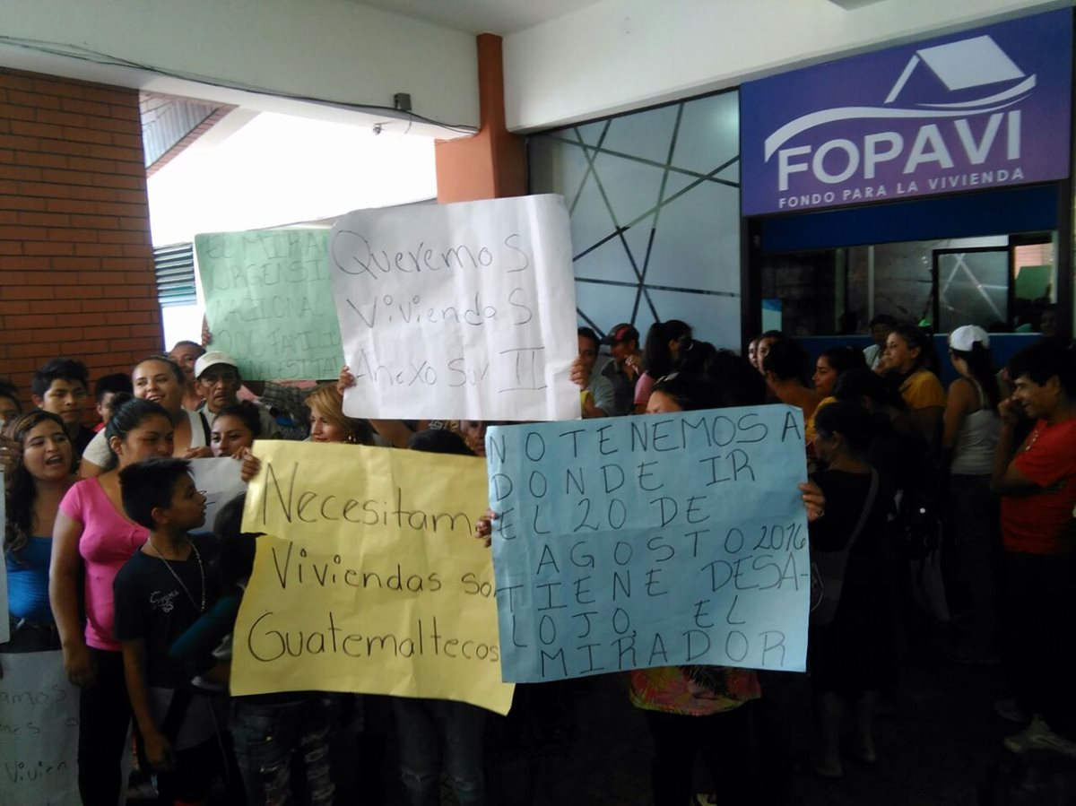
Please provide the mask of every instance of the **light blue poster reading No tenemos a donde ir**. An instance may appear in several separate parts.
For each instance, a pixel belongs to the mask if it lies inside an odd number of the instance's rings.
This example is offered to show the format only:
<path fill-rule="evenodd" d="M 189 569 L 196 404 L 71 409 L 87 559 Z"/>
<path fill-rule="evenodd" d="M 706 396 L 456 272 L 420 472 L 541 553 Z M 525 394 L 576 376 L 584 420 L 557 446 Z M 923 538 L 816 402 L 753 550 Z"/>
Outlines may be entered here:
<path fill-rule="evenodd" d="M 804 670 L 799 409 L 499 426 L 486 456 L 506 681 Z"/>

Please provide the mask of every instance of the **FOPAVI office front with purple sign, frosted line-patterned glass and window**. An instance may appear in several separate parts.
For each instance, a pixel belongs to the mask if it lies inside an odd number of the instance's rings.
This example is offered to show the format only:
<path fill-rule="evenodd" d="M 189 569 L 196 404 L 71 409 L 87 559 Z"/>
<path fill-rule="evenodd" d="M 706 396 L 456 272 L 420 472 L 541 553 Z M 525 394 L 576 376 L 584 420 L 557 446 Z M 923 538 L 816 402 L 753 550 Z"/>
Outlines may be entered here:
<path fill-rule="evenodd" d="M 533 137 L 530 187 L 568 199 L 598 329 L 739 349 L 879 313 L 1037 330 L 1060 302 L 1068 334 L 1071 95 L 1064 9 Z"/>

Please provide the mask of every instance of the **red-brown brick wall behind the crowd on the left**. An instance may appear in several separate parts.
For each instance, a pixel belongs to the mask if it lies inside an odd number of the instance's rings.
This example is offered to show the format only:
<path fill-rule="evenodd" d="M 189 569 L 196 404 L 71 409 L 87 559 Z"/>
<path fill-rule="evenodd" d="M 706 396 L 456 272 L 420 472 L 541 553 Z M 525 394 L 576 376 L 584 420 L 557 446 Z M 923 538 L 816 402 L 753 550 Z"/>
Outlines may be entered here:
<path fill-rule="evenodd" d="M 161 340 L 138 90 L 0 69 L 0 378 Z"/>

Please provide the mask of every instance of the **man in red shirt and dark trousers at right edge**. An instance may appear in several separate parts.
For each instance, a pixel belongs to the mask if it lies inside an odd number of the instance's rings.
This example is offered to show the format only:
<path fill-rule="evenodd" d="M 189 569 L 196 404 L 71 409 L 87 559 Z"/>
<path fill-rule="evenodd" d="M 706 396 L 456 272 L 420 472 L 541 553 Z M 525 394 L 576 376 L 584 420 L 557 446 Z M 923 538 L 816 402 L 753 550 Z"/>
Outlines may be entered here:
<path fill-rule="evenodd" d="M 1076 758 L 1076 355 L 1051 344 L 1018 353 L 1008 366 L 1013 397 L 999 407 L 1001 439 L 993 489 L 1001 495 L 1006 632 L 1017 701 L 1033 713 L 1005 739 L 1014 752 L 1052 750 Z M 1020 415 L 1035 421 L 1014 451 Z"/>

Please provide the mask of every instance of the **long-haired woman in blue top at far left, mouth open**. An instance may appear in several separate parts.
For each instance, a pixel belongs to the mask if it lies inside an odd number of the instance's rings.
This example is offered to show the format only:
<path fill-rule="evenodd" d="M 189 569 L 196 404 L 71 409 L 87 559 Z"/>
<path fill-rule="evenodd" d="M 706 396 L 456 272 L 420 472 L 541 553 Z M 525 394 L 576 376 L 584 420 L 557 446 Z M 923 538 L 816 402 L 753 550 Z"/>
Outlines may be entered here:
<path fill-rule="evenodd" d="M 18 446 L 4 475 L 3 550 L 8 569 L 11 640 L 0 652 L 59 649 L 48 606 L 48 565 L 53 525 L 60 500 L 74 482 L 73 447 L 63 421 L 47 411 L 12 420 L 3 436 Z"/>

